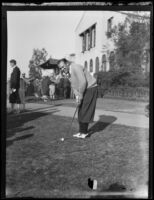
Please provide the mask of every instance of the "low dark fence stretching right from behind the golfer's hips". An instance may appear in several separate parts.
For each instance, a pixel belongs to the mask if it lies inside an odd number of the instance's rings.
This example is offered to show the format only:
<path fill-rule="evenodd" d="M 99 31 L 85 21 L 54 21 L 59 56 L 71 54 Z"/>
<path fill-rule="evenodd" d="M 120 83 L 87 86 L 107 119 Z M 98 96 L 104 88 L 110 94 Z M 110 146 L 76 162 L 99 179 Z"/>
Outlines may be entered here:
<path fill-rule="evenodd" d="M 104 91 L 103 88 L 99 87 L 98 96 L 105 98 L 149 101 L 149 88 L 112 88 Z"/>

